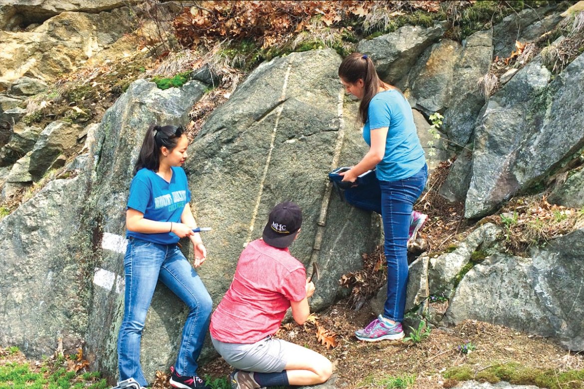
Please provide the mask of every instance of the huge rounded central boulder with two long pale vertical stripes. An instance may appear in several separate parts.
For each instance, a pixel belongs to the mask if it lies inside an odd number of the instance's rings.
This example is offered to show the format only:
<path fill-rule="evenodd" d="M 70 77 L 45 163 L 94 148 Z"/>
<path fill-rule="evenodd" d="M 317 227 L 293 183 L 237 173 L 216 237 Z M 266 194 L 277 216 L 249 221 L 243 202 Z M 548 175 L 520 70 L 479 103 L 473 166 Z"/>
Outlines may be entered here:
<path fill-rule="evenodd" d="M 201 225 L 214 228 L 205 236 L 213 265 L 201 270 L 212 296 L 227 290 L 242 248 L 262 236 L 281 201 L 303 209 L 291 253 L 309 269 L 312 261 L 321 267 L 312 309 L 335 300 L 340 275 L 359 269 L 361 254 L 377 242 L 377 218 L 340 202 L 326 180 L 366 152 L 360 133 L 346 124 L 354 117 L 343 119 L 339 64 L 334 51 L 317 50 L 260 65 L 190 146 L 193 208 Z"/>

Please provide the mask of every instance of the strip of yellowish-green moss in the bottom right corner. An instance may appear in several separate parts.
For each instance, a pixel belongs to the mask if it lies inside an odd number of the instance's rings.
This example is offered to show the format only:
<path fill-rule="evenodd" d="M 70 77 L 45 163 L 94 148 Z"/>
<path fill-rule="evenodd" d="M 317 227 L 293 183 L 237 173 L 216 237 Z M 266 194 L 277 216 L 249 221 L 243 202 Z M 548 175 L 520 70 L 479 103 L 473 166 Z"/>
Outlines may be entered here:
<path fill-rule="evenodd" d="M 555 372 L 551 369 L 537 369 L 519 363 L 493 363 L 483 370 L 474 372 L 475 366 L 456 366 L 444 372 L 446 379 L 457 381 L 477 380 L 491 384 L 507 381 L 515 385 L 534 385 L 540 388 L 562 389 L 584 387 L 584 370 Z M 478 369 L 478 368 L 477 368 Z"/>

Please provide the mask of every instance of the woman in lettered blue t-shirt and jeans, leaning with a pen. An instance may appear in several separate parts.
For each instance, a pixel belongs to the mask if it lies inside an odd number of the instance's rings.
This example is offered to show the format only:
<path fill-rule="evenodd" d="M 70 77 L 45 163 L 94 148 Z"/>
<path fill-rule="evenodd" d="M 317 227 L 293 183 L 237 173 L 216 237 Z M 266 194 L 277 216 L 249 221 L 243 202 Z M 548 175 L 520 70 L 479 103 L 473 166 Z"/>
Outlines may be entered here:
<path fill-rule="evenodd" d="M 173 125 L 151 126 L 134 167 L 126 211 L 128 246 L 124 258 L 124 320 L 118 339 L 120 380 L 147 381 L 140 366 L 140 339 L 157 281 L 189 307 L 178 358 L 171 367 L 173 387 L 208 388 L 197 376 L 197 358 L 207 332 L 212 302 L 194 268 L 207 257 L 190 210 L 190 191 L 182 169 L 188 140 Z M 193 266 L 178 247 L 180 238 L 193 244 Z M 194 267 L 194 268 L 193 268 Z"/>

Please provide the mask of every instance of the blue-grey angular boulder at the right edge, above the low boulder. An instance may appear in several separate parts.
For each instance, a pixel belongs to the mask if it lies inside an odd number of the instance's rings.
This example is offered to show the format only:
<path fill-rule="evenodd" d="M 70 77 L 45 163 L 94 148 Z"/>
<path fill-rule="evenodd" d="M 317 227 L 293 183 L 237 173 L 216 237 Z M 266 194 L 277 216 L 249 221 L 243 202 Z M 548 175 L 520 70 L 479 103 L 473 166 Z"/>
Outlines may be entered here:
<path fill-rule="evenodd" d="M 582 83 L 584 55 L 553 80 L 536 59 L 489 99 L 475 133 L 466 218 L 492 212 L 584 146 Z"/>

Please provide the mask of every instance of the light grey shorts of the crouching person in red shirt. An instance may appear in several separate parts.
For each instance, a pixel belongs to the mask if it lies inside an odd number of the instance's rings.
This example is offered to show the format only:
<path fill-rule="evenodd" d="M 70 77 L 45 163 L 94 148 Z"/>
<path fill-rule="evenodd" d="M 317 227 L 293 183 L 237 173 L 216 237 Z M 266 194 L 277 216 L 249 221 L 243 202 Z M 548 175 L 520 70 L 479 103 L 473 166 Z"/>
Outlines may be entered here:
<path fill-rule="evenodd" d="M 235 369 L 259 373 L 282 372 L 288 357 L 304 349 L 302 346 L 272 337 L 251 344 L 224 343 L 213 337 L 211 342 L 215 350 Z"/>

